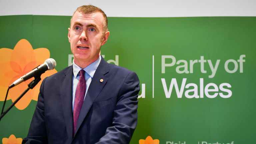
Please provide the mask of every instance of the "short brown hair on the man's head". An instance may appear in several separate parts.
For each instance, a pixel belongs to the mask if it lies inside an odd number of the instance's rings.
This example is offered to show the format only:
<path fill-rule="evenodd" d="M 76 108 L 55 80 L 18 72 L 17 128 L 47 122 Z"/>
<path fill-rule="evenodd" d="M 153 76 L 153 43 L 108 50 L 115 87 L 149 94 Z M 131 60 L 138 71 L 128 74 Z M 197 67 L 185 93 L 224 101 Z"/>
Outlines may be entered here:
<path fill-rule="evenodd" d="M 108 18 L 107 18 L 107 15 L 104 13 L 103 10 L 101 10 L 100 8 L 96 7 L 96 6 L 93 6 L 93 5 L 83 5 L 83 6 L 80 6 L 76 9 L 76 11 L 74 12 L 74 14 L 76 12 L 80 12 L 80 13 L 83 13 L 83 14 L 91 14 L 91 13 L 101 13 L 104 17 L 104 24 L 103 24 L 103 32 L 105 33 L 106 31 L 108 31 Z M 73 16 L 74 16 L 73 14 Z M 72 18 L 73 16 L 71 17 L 70 19 L 70 26 L 71 27 L 71 22 L 72 22 Z"/>

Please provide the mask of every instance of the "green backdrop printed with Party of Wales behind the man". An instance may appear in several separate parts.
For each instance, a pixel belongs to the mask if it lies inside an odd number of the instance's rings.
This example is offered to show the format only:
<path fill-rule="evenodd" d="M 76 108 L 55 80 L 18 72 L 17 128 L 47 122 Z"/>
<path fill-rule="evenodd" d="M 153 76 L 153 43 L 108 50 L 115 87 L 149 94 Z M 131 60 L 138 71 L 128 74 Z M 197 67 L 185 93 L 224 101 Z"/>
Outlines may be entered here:
<path fill-rule="evenodd" d="M 68 55 L 72 54 L 67 38 L 70 16 L 0 16 L 0 21 L 0 48 L 13 49 L 20 39 L 27 39 L 34 49 L 49 49 L 50 57 L 57 62 L 57 71 L 68 66 Z M 119 66 L 135 71 L 140 85 L 145 84 L 145 89 L 140 91 L 140 94 L 145 93 L 139 98 L 138 125 L 131 144 L 138 144 L 147 136 L 159 139 L 160 144 L 226 144 L 232 141 L 249 144 L 256 141 L 256 17 L 109 17 L 109 31 L 110 37 L 101 48 L 105 60 L 118 61 Z M 165 67 L 162 73 L 164 55 L 175 57 L 176 63 Z M 238 62 L 241 55 L 245 55 L 243 72 Z M 199 61 L 201 56 L 206 62 L 195 63 L 191 73 L 190 60 Z M 229 70 L 236 68 L 235 63 L 238 65 L 234 73 L 225 69 L 230 59 Z M 216 74 L 209 78 L 212 72 L 208 62 L 215 66 L 217 60 Z M 165 59 L 166 64 L 172 62 L 173 59 Z M 202 72 L 202 65 L 206 73 Z M 186 68 L 189 73 L 177 72 L 177 69 L 185 71 Z M 194 83 L 194 86 L 184 87 L 181 98 L 173 87 L 167 98 L 164 85 L 169 90 L 170 83 L 174 82 L 172 78 L 176 79 L 178 89 L 184 78 L 185 85 Z M 208 98 L 205 90 L 200 91 L 200 78 L 203 78 L 204 88 L 209 83 L 218 87 L 209 92 L 209 95 L 217 93 L 215 98 Z M 220 90 L 222 83 L 231 86 L 223 87 L 232 92 L 229 98 L 219 94 L 228 94 Z M 191 89 L 194 90 L 187 91 Z M 186 91 L 189 95 L 203 92 L 204 98 L 187 98 Z M 8 100 L 6 107 L 11 104 Z M 0 140 L 11 134 L 17 138 L 26 137 L 35 105 L 36 101 L 32 100 L 24 110 L 12 108 L 0 121 Z"/>

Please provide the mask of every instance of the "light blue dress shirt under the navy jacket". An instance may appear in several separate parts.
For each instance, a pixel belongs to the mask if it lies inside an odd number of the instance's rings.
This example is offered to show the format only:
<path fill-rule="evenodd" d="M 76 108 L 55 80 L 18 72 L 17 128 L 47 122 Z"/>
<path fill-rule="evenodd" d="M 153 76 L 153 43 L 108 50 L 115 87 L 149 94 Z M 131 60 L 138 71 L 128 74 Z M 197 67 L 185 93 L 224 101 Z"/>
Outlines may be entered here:
<path fill-rule="evenodd" d="M 96 61 L 94 61 L 93 63 L 91 63 L 90 65 L 88 65 L 87 67 L 84 68 L 85 80 L 86 80 L 85 96 L 86 96 L 88 88 L 89 88 L 89 86 L 91 84 L 93 75 L 94 75 L 97 67 L 100 64 L 100 60 L 101 60 L 101 56 Z M 73 112 L 74 112 L 74 104 L 75 104 L 75 97 L 76 97 L 75 96 L 76 95 L 76 87 L 77 87 L 77 84 L 78 84 L 78 81 L 79 81 L 79 77 L 80 77 L 79 71 L 81 69 L 82 68 L 80 68 L 78 65 L 76 65 L 74 63 L 74 60 L 73 60 L 73 92 L 72 92 L 72 95 L 73 95 L 73 100 L 72 100 Z M 84 98 L 85 98 L 85 96 L 84 96 Z"/>

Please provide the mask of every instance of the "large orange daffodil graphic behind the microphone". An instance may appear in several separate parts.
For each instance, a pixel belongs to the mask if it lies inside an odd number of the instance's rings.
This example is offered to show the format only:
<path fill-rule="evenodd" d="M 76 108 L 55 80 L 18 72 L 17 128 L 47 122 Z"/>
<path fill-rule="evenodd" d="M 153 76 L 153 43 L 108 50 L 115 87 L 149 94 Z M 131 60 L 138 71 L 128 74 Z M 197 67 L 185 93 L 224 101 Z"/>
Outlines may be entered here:
<path fill-rule="evenodd" d="M 35 67 L 44 63 L 46 59 L 50 58 L 50 51 L 47 48 L 33 49 L 29 41 L 21 39 L 15 45 L 14 49 L 1 48 L 0 49 L 0 101 L 4 101 L 6 91 L 15 80 L 25 75 Z M 43 80 L 57 71 L 55 69 L 46 71 L 41 75 Z M 28 88 L 28 84 L 33 80 L 31 78 L 19 85 L 11 88 L 7 100 L 11 99 L 14 102 L 20 94 Z M 31 100 L 37 101 L 39 88 L 42 80 L 32 89 L 29 90 L 15 106 L 19 110 L 25 109 Z"/>

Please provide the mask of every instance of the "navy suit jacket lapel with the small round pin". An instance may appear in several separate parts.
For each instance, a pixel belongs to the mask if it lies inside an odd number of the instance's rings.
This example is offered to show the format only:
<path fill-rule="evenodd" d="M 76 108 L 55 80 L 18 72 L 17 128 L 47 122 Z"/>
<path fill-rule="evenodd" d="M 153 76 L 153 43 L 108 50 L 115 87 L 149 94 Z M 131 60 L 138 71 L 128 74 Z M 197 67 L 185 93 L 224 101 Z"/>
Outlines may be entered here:
<path fill-rule="evenodd" d="M 108 73 L 108 63 L 103 58 L 101 58 L 101 62 L 97 70 L 95 71 L 95 74 L 88 88 L 88 92 L 85 96 L 83 106 L 81 108 L 79 118 L 77 121 L 76 130 L 78 130 L 81 126 L 95 99 L 98 97 L 98 95 L 104 88 L 105 84 L 107 83 L 108 78 L 105 77 L 106 73 Z"/>

